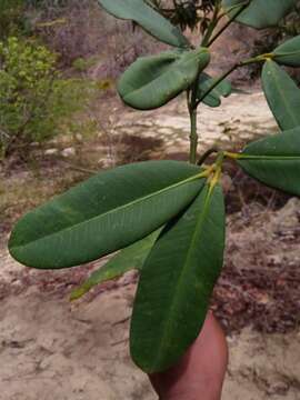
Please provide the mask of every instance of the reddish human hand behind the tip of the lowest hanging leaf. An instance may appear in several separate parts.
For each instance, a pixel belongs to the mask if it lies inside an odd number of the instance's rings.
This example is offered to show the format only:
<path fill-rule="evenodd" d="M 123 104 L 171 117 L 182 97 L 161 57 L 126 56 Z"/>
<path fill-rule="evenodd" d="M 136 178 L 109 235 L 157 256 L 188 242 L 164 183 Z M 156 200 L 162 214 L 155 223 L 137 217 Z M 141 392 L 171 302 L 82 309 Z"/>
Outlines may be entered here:
<path fill-rule="evenodd" d="M 209 312 L 201 333 L 178 364 L 149 378 L 161 400 L 220 400 L 227 366 L 226 337 Z"/>

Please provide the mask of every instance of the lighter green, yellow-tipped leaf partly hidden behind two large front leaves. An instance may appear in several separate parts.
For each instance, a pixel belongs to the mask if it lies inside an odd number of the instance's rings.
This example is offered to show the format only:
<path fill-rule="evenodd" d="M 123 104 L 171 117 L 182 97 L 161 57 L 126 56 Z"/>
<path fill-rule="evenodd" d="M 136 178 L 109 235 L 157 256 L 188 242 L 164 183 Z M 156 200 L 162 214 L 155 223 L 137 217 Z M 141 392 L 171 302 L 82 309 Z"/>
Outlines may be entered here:
<path fill-rule="evenodd" d="M 151 248 L 153 247 L 161 229 L 156 230 L 142 240 L 122 249 L 113 256 L 104 266 L 100 267 L 77 289 L 71 292 L 70 300 L 80 299 L 93 287 L 108 280 L 116 279 L 126 272 L 141 270 Z"/>

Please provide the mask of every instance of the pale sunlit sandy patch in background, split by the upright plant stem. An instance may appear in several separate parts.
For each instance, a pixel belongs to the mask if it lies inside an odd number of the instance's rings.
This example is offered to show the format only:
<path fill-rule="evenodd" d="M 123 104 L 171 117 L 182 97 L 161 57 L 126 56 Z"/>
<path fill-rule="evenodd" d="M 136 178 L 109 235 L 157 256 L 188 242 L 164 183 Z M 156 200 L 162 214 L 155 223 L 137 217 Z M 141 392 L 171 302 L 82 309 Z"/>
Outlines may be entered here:
<path fill-rule="evenodd" d="M 264 96 L 258 89 L 246 94 L 232 94 L 216 109 L 202 104 L 198 112 L 198 127 L 200 151 L 209 146 L 232 148 L 232 144 L 243 144 L 249 139 L 278 130 Z M 188 152 L 189 116 L 186 102 L 172 101 L 154 111 L 128 111 L 116 124 L 116 133 L 120 132 L 159 138 L 170 156 Z"/>

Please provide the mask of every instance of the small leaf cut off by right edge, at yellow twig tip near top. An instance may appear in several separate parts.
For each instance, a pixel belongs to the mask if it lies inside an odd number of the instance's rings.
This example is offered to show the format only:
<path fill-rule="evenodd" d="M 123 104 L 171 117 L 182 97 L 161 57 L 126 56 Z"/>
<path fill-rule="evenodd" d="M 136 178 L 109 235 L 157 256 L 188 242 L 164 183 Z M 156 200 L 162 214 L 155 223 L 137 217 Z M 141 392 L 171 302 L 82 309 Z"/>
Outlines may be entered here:
<path fill-rule="evenodd" d="M 273 60 L 280 64 L 300 67 L 300 36 L 280 44 L 272 54 Z"/>

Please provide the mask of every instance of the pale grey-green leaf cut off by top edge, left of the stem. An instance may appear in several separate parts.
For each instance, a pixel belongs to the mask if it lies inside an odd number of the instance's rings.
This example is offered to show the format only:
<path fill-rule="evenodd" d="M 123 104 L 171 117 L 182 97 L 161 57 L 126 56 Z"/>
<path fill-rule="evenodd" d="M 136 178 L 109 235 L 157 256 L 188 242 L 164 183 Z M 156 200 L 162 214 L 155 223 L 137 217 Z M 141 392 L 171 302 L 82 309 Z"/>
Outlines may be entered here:
<path fill-rule="evenodd" d="M 98 0 L 112 16 L 131 20 L 160 41 L 188 48 L 190 43 L 181 31 L 142 0 Z"/>

